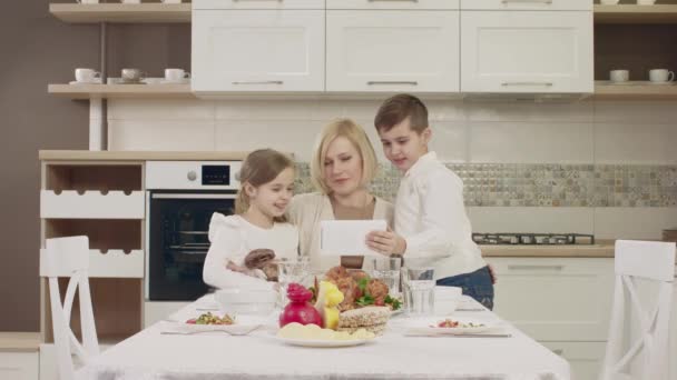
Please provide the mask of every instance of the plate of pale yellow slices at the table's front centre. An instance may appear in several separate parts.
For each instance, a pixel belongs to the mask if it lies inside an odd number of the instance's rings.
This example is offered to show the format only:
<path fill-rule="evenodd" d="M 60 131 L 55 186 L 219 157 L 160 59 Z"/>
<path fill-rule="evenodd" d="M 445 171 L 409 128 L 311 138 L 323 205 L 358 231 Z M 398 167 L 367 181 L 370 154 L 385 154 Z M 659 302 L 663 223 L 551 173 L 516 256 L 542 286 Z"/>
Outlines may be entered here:
<path fill-rule="evenodd" d="M 335 331 L 323 329 L 317 324 L 301 324 L 294 322 L 279 329 L 275 338 L 285 344 L 332 348 L 364 344 L 374 340 L 376 334 L 365 329 Z"/>

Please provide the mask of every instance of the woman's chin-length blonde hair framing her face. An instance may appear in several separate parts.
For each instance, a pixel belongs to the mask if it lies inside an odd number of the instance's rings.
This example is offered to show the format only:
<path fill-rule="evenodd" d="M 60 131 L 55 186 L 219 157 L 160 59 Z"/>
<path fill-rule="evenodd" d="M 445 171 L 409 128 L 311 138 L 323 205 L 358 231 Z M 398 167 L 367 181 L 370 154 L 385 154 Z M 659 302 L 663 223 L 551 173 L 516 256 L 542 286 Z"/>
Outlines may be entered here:
<path fill-rule="evenodd" d="M 336 119 L 326 124 L 320 132 L 311 160 L 311 180 L 315 188 L 324 194 L 332 192 L 324 179 L 324 160 L 330 143 L 338 137 L 346 138 L 360 153 L 362 159 L 362 180 L 360 184 L 366 186 L 376 176 L 376 153 L 364 129 L 351 119 Z"/>

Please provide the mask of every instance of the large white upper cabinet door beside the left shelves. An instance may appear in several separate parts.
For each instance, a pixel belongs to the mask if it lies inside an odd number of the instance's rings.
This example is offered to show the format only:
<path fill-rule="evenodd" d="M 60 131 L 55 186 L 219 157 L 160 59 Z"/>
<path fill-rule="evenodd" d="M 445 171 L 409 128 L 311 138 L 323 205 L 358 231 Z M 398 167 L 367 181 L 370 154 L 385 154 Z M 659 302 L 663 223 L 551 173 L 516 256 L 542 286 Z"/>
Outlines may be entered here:
<path fill-rule="evenodd" d="M 193 13 L 193 91 L 324 91 L 323 10 Z"/>

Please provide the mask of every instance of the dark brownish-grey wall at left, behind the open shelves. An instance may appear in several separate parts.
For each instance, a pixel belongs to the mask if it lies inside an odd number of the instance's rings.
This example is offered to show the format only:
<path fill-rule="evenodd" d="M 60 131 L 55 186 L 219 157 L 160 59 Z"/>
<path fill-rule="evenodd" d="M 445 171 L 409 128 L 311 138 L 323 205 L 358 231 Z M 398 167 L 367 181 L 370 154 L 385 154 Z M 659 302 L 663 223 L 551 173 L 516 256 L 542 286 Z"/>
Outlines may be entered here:
<path fill-rule="evenodd" d="M 190 28 L 110 26 L 109 72 L 189 70 Z M 76 67 L 99 68 L 99 27 L 51 17 L 49 0 L 0 12 L 0 331 L 39 330 L 40 149 L 87 149 L 89 103 L 48 96 Z"/>

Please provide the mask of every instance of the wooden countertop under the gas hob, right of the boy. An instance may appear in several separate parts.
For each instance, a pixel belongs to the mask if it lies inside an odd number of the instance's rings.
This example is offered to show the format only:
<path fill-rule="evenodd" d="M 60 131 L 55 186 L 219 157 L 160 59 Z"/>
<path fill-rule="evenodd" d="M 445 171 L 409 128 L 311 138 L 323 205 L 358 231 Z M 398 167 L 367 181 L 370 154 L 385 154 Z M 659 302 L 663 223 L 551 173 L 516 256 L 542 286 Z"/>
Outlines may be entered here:
<path fill-rule="evenodd" d="M 509 258 L 612 258 L 614 240 L 597 241 L 596 244 L 570 246 L 479 246 L 483 257 Z"/>

